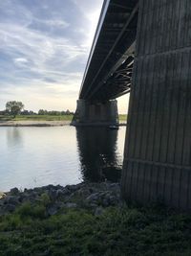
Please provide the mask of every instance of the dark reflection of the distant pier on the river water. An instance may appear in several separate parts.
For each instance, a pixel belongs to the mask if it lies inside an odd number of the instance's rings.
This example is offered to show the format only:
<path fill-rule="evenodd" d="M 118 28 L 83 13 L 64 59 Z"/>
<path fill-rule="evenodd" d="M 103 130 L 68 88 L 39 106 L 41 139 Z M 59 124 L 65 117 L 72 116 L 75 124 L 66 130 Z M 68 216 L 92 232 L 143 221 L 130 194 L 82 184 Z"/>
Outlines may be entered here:
<path fill-rule="evenodd" d="M 84 180 L 118 181 L 121 166 L 117 159 L 117 130 L 103 127 L 76 128 L 76 138 Z"/>

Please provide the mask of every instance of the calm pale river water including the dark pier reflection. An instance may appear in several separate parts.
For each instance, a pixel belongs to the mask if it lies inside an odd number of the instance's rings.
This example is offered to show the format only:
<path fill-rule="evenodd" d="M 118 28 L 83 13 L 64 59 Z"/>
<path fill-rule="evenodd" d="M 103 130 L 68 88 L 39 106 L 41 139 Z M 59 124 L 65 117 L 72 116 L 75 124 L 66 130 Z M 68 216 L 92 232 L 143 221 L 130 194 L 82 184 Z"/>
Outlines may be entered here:
<path fill-rule="evenodd" d="M 117 179 L 125 129 L 0 128 L 0 191 Z"/>

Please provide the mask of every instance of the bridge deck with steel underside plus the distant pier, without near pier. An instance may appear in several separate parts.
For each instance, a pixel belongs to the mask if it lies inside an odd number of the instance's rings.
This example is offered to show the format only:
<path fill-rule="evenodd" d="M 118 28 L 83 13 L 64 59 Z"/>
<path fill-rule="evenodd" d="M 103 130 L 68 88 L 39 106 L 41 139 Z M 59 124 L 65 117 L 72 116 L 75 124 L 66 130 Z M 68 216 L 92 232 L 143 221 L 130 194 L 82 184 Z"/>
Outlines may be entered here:
<path fill-rule="evenodd" d="M 115 99 L 130 92 L 138 0 L 105 0 L 81 84 L 74 123 L 117 124 Z"/>

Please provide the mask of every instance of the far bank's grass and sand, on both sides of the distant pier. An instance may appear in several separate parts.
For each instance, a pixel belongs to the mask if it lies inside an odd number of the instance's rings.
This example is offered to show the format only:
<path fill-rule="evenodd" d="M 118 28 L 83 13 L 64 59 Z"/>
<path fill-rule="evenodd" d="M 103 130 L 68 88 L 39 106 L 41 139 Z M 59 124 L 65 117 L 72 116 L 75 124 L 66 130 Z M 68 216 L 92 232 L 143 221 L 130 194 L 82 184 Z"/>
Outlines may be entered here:
<path fill-rule="evenodd" d="M 58 127 L 67 126 L 74 115 L 0 115 L 0 127 Z M 127 115 L 119 114 L 119 124 L 126 124 Z"/>

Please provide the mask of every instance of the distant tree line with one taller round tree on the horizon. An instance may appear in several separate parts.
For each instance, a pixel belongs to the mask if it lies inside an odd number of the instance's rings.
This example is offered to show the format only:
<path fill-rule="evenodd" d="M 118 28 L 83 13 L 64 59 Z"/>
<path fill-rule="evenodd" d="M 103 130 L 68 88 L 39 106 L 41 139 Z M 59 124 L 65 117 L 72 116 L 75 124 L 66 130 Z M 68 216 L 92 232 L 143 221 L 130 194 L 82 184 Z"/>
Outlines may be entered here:
<path fill-rule="evenodd" d="M 24 105 L 21 102 L 11 101 L 6 104 L 6 109 L 0 111 L 0 115 L 52 115 L 52 116 L 59 116 L 59 115 L 73 115 L 74 112 L 71 112 L 69 109 L 66 111 L 57 111 L 57 110 L 46 110 L 46 109 L 39 109 L 38 112 L 34 112 L 32 110 L 24 109 Z"/>

